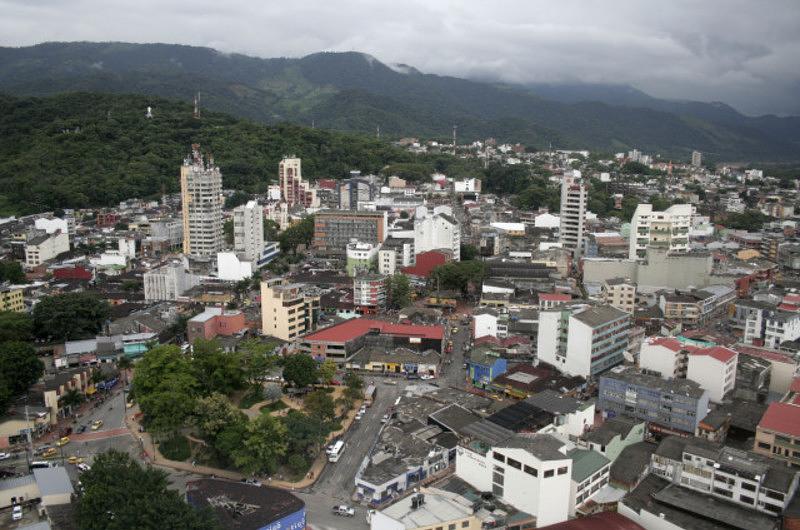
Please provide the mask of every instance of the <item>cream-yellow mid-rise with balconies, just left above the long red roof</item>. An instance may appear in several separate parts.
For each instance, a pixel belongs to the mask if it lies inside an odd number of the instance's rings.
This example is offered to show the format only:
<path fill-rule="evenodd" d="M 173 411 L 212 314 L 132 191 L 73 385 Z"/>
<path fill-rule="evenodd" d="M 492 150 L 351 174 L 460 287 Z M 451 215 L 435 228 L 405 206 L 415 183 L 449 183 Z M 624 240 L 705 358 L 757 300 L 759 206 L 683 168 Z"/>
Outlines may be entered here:
<path fill-rule="evenodd" d="M 283 278 L 261 282 L 261 333 L 291 341 L 313 331 L 319 299 L 315 290 Z"/>

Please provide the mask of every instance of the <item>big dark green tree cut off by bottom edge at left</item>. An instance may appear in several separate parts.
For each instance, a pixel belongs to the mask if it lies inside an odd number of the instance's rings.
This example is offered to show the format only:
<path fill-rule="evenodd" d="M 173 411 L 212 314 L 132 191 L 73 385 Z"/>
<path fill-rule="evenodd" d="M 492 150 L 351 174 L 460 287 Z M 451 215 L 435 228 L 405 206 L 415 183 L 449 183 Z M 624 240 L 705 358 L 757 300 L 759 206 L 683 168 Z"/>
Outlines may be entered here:
<path fill-rule="evenodd" d="M 217 528 L 208 511 L 189 506 L 168 484 L 164 471 L 143 468 L 127 453 L 113 449 L 101 453 L 81 474 L 84 492 L 77 503 L 78 525 L 83 530 Z"/>

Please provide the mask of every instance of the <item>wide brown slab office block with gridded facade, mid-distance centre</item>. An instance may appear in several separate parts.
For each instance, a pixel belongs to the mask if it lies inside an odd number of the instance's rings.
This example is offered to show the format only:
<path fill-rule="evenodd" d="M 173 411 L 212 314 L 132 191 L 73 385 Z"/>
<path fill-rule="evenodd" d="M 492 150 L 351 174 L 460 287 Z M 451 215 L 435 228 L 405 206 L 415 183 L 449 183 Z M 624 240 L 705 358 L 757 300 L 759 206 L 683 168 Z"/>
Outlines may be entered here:
<path fill-rule="evenodd" d="M 352 239 L 380 245 L 386 240 L 386 212 L 322 210 L 314 216 L 315 251 L 331 256 L 345 256 Z"/>

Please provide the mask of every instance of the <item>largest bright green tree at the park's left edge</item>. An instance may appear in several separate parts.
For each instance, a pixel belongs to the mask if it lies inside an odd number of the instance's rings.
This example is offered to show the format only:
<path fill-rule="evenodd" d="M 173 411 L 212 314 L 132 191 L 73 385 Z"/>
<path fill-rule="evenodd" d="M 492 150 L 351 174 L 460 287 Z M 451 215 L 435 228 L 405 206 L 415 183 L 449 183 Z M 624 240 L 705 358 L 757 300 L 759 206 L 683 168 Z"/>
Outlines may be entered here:
<path fill-rule="evenodd" d="M 147 426 L 165 434 L 183 426 L 195 410 L 200 384 L 178 346 L 157 346 L 136 365 L 133 389 Z"/>

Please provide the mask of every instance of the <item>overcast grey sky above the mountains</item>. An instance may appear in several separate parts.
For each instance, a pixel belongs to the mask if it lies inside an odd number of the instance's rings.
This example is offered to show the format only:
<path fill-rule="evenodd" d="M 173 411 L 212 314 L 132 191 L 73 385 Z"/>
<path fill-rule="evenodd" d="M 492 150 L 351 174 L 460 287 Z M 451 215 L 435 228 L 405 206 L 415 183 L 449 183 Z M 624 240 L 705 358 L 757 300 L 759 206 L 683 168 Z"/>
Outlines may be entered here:
<path fill-rule="evenodd" d="M 0 44 L 362 51 L 426 73 L 627 83 L 800 115 L 800 0 L 0 0 Z"/>

